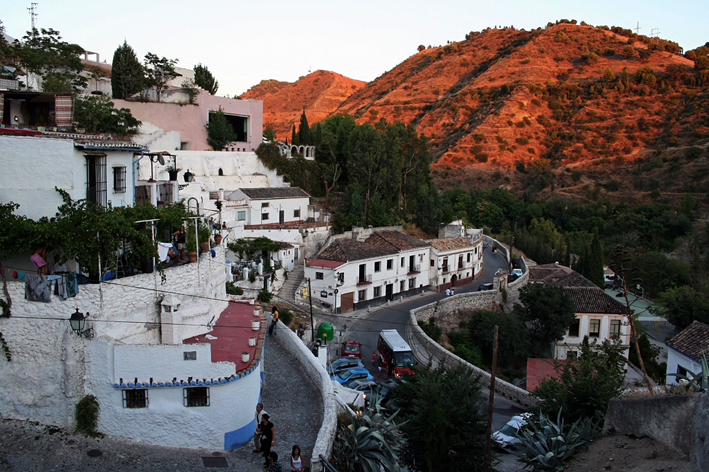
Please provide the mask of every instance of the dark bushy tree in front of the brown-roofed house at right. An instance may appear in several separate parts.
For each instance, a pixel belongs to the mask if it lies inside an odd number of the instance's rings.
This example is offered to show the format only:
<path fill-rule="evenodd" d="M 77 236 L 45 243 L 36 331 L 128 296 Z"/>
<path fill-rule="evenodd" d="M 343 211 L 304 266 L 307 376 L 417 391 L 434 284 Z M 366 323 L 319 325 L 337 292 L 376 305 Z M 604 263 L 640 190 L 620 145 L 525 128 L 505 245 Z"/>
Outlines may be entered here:
<path fill-rule="evenodd" d="M 623 391 L 625 357 L 619 340 L 605 340 L 592 348 L 584 337 L 576 359 L 555 366 L 558 378 L 545 378 L 532 392 L 542 413 L 557 414 L 569 422 L 602 416 L 608 402 Z"/>

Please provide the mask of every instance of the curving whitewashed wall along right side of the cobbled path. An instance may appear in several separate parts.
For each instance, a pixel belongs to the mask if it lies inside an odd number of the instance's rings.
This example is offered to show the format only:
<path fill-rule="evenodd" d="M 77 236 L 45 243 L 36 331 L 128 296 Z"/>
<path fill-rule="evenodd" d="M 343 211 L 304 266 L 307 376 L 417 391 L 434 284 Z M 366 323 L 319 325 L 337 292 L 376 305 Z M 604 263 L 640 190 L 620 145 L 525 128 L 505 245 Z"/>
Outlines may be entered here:
<path fill-rule="evenodd" d="M 335 401 L 335 394 L 332 389 L 332 382 L 328 377 L 327 372 L 318 361 L 318 358 L 303 344 L 303 341 L 291 331 L 281 321 L 276 326 L 278 329 L 278 339 L 283 346 L 298 359 L 298 362 L 303 366 L 306 374 L 315 385 L 315 388 L 321 393 L 321 401 L 323 406 L 323 422 L 318 432 L 318 438 L 313 447 L 313 456 L 311 460 L 311 470 L 322 470 L 320 464 L 320 455 L 330 457 L 332 452 L 332 443 L 335 441 L 335 433 L 337 432 L 337 412 L 339 405 Z"/>

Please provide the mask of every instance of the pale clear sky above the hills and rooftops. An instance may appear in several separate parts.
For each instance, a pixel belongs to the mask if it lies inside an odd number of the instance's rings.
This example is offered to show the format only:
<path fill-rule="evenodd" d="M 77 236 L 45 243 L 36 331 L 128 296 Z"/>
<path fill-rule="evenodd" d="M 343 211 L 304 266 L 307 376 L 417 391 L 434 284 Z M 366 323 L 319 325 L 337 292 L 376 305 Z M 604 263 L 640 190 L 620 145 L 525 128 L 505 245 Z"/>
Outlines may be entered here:
<path fill-rule="evenodd" d="M 5 33 L 31 29 L 24 0 L 0 0 Z M 178 67 L 206 65 L 217 95 L 235 96 L 262 80 L 295 82 L 316 70 L 372 81 L 419 45 L 461 41 L 488 27 L 544 27 L 559 19 L 621 26 L 679 43 L 709 41 L 708 0 L 37 0 L 37 28 L 111 62 L 128 41 L 139 59 L 152 52 Z"/>

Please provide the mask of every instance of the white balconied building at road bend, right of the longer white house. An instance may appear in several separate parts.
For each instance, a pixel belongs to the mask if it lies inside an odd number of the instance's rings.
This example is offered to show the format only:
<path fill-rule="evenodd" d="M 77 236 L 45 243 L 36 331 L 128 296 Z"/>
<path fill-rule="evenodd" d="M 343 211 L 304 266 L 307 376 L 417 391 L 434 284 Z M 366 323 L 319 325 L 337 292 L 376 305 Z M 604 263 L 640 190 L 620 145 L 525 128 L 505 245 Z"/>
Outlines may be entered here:
<path fill-rule="evenodd" d="M 459 236 L 432 239 L 430 257 L 430 285 L 438 291 L 465 285 L 482 270 L 483 239 L 471 241 Z"/>

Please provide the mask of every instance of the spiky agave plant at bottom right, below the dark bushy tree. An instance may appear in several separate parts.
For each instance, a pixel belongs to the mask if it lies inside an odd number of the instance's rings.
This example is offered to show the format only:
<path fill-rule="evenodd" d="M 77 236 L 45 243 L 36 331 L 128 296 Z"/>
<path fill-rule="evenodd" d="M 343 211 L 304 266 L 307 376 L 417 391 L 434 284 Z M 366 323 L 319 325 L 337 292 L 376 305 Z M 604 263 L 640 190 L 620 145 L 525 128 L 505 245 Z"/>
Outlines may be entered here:
<path fill-rule="evenodd" d="M 564 432 L 561 410 L 556 422 L 540 412 L 539 420 L 530 420 L 517 433 L 517 438 L 520 442 L 512 452 L 518 461 L 526 464 L 525 469 L 530 467 L 533 470 L 561 469 L 573 450 L 584 443 L 578 432 L 578 422 Z"/>

